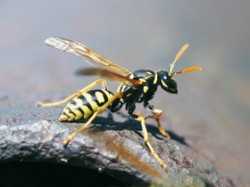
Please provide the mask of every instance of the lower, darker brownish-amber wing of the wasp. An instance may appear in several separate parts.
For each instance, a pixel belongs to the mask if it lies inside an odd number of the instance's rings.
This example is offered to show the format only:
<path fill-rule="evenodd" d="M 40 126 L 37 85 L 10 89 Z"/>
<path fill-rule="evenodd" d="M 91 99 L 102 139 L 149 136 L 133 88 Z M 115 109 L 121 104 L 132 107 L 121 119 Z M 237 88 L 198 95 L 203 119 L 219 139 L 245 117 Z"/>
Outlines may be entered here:
<path fill-rule="evenodd" d="M 124 84 L 129 84 L 129 85 L 134 85 L 134 86 L 143 84 L 143 82 L 140 80 L 130 79 L 127 76 L 124 76 L 122 74 L 119 74 L 119 73 L 116 73 L 107 69 L 83 68 L 83 69 L 77 70 L 76 74 L 77 75 L 99 75 L 107 79 L 116 80 Z"/>

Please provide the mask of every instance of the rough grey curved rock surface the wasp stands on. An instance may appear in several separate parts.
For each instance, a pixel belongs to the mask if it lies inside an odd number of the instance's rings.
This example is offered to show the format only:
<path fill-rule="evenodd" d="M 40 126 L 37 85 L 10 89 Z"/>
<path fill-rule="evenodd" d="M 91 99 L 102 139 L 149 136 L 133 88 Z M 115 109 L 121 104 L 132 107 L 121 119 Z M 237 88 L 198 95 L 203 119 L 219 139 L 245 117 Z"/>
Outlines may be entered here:
<path fill-rule="evenodd" d="M 210 160 L 173 132 L 169 132 L 172 136 L 169 139 L 163 137 L 155 126 L 148 126 L 152 146 L 168 164 L 165 172 L 145 145 L 140 123 L 128 120 L 126 116 L 123 122 L 100 116 L 94 125 L 64 147 L 62 142 L 82 123 L 57 121 L 60 108 L 38 108 L 32 104 L 4 106 L 4 100 L 0 101 L 3 106 L 0 108 L 0 161 L 1 167 L 5 168 L 2 171 L 9 171 L 10 176 L 10 170 L 19 168 L 23 173 L 25 168 L 32 168 L 33 163 L 38 164 L 34 168 L 52 168 L 51 171 L 42 170 L 47 173 L 43 173 L 43 178 L 60 173 L 62 177 L 54 179 L 62 184 L 68 179 L 69 184 L 69 181 L 78 181 L 79 184 L 89 181 L 91 184 L 100 182 L 118 186 L 234 186 L 216 171 Z M 75 173 L 62 174 L 69 169 Z M 1 176 L 8 177 L 6 175 Z M 29 175 L 32 181 L 37 173 L 29 172 Z M 76 180 L 77 177 L 82 179 Z M 96 180 L 90 180 L 92 177 Z M 102 178 L 109 182 L 103 182 Z M 16 182 L 21 185 L 20 181 Z"/>

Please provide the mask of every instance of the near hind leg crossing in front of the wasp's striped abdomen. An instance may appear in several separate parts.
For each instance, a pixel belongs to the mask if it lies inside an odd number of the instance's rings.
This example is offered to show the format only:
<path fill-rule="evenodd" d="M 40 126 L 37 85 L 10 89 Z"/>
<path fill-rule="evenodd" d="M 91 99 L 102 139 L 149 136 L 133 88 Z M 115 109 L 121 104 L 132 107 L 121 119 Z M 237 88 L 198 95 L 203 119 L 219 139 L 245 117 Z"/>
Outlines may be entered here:
<path fill-rule="evenodd" d="M 64 145 L 67 146 L 67 145 L 73 140 L 73 138 L 74 138 L 77 134 L 79 134 L 80 132 L 86 130 L 86 129 L 90 126 L 91 122 L 96 118 L 96 116 L 97 116 L 98 114 L 100 114 L 100 113 L 102 113 L 104 110 L 106 110 L 106 109 L 110 106 L 110 104 L 111 104 L 112 102 L 114 102 L 115 99 L 120 98 L 120 97 L 122 97 L 122 92 L 117 92 L 117 93 L 114 95 L 114 97 L 113 97 L 112 99 L 110 99 L 105 105 L 99 107 L 99 108 L 96 110 L 96 112 L 89 118 L 89 120 L 87 121 L 87 123 L 85 123 L 82 127 L 80 127 L 79 129 L 77 129 L 75 132 L 73 132 L 72 134 L 70 134 L 70 135 L 67 137 L 67 139 L 63 142 Z"/>

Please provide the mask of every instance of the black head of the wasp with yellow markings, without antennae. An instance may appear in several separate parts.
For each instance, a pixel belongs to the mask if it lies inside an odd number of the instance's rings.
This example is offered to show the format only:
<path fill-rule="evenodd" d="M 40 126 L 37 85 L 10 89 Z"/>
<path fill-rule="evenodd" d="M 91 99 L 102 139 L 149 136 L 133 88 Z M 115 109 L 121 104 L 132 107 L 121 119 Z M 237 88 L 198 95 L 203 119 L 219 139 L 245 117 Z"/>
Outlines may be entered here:
<path fill-rule="evenodd" d="M 157 72 L 159 77 L 159 84 L 161 85 L 162 89 L 169 93 L 177 94 L 177 83 L 176 81 L 169 76 L 167 71 L 158 71 Z"/>

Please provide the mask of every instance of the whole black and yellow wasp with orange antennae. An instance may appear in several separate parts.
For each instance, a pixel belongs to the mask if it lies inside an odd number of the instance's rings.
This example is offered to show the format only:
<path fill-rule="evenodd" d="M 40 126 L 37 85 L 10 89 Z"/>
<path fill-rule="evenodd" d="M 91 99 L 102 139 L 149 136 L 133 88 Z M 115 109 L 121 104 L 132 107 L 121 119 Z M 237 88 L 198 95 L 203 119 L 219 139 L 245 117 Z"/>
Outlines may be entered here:
<path fill-rule="evenodd" d="M 82 127 L 67 137 L 64 141 L 64 145 L 68 145 L 77 134 L 86 130 L 96 116 L 104 110 L 109 109 L 111 112 L 117 112 L 123 107 L 123 105 L 125 105 L 125 109 L 127 110 L 129 116 L 140 121 L 144 141 L 150 152 L 161 167 L 167 170 L 167 164 L 160 158 L 150 144 L 145 122 L 149 118 L 155 119 L 160 133 L 169 137 L 169 134 L 165 132 L 160 123 L 160 117 L 163 114 L 163 110 L 155 108 L 149 103 L 149 101 L 153 99 L 159 86 L 168 93 L 177 94 L 178 89 L 177 83 L 173 79 L 174 76 L 190 71 L 201 70 L 199 66 L 192 66 L 178 72 L 173 72 L 175 63 L 188 49 L 189 45 L 185 44 L 181 48 L 175 56 L 174 61 L 170 64 L 168 71 L 140 69 L 131 72 L 95 53 L 90 48 L 79 42 L 65 38 L 51 37 L 46 39 L 45 43 L 61 51 L 83 57 L 91 65 L 97 66 L 97 68 L 80 69 L 77 71 L 77 74 L 100 75 L 103 78 L 109 78 L 121 82 L 115 93 L 112 93 L 107 89 L 105 79 L 98 79 L 61 101 L 52 103 L 37 103 L 38 106 L 41 107 L 52 107 L 63 105 L 68 102 L 58 118 L 58 120 L 62 122 L 87 119 L 87 122 Z M 97 84 L 102 84 L 102 89 L 94 89 Z M 136 103 L 143 103 L 143 106 L 149 110 L 152 115 L 143 117 L 140 114 L 136 114 Z"/>

